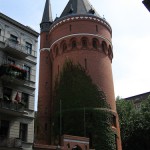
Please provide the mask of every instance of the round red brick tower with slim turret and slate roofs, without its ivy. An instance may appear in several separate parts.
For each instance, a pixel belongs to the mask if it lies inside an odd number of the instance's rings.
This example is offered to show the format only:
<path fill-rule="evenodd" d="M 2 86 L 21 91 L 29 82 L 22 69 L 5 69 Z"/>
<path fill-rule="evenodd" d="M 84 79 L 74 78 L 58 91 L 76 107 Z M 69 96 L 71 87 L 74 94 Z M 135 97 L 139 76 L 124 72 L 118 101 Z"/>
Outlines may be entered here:
<path fill-rule="evenodd" d="M 52 20 L 49 0 L 43 13 L 40 40 L 37 142 L 52 144 L 52 107 L 55 79 L 69 59 L 81 64 L 107 98 L 115 116 L 113 129 L 121 150 L 120 130 L 112 77 L 112 29 L 88 0 L 69 0 L 60 17 Z"/>

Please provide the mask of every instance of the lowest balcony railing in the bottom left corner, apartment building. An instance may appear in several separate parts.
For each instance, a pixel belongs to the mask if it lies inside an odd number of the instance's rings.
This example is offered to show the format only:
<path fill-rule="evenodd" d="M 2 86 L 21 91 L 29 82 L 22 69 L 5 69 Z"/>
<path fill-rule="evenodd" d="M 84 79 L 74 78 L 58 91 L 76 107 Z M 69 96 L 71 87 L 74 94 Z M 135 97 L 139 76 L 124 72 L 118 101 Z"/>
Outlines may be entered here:
<path fill-rule="evenodd" d="M 0 147 L 21 148 L 22 141 L 19 138 L 3 138 L 0 136 Z"/>

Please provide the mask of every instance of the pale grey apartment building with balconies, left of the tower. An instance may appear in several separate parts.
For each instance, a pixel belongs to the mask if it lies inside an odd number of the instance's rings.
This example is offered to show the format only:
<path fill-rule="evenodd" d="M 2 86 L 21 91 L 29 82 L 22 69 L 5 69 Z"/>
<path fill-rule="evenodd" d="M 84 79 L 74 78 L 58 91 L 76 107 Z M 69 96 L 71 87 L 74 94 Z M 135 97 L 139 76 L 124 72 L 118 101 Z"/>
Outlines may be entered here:
<path fill-rule="evenodd" d="M 30 150 L 39 34 L 0 13 L 0 149 Z"/>

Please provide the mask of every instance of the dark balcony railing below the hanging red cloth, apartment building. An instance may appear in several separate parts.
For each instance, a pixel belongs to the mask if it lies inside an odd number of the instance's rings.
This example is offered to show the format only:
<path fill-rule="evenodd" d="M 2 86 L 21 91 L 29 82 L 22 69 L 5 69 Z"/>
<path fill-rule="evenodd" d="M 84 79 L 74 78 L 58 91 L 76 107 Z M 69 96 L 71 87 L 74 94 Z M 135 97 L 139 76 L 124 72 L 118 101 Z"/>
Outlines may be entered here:
<path fill-rule="evenodd" d="M 23 112 L 25 105 L 23 103 L 17 103 L 17 102 L 12 102 L 11 100 L 0 100 L 0 108 L 2 109 L 7 109 L 7 110 L 12 110 L 12 111 L 19 111 Z"/>

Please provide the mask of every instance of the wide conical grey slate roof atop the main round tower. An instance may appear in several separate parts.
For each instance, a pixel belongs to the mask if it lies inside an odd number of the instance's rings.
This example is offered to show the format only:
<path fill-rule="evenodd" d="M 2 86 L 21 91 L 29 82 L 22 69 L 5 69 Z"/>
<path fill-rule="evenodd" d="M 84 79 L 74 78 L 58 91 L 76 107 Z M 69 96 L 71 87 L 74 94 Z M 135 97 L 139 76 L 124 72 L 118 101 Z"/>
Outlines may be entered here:
<path fill-rule="evenodd" d="M 100 17 L 88 0 L 69 0 L 67 6 L 62 12 L 61 17 L 67 15 L 94 15 Z"/>

